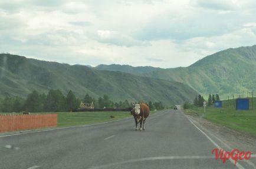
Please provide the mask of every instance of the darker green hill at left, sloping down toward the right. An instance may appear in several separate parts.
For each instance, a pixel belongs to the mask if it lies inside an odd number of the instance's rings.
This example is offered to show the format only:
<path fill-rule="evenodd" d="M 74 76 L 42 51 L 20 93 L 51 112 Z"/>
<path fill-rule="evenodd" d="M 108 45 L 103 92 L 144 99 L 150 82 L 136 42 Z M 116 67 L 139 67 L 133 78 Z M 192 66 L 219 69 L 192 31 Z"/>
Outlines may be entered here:
<path fill-rule="evenodd" d="M 0 54 L 0 97 L 25 97 L 32 90 L 47 93 L 50 89 L 64 94 L 72 90 L 78 97 L 108 94 L 113 101 L 161 101 L 168 106 L 192 101 L 197 94 L 179 82 Z"/>

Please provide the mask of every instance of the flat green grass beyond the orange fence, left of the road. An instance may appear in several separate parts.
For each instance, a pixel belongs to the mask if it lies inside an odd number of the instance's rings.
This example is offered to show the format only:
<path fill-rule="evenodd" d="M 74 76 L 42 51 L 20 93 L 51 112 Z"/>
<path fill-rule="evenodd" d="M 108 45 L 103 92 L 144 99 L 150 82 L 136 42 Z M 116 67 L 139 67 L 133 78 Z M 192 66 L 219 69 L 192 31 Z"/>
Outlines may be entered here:
<path fill-rule="evenodd" d="M 150 114 L 159 111 L 150 111 Z M 22 114 L 22 113 L 0 113 L 0 114 Z M 52 113 L 31 113 L 31 114 L 52 114 Z M 103 123 L 106 121 L 119 120 L 132 117 L 130 111 L 114 112 L 60 112 L 58 114 L 58 127 L 80 126 L 84 124 Z M 114 116 L 111 118 L 110 116 Z"/>

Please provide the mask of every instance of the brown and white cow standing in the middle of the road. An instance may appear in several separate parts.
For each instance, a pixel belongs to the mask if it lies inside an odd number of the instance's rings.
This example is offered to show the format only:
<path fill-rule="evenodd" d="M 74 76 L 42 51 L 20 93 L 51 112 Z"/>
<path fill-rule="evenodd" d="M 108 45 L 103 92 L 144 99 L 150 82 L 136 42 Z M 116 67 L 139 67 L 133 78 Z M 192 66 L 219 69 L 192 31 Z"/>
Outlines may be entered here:
<path fill-rule="evenodd" d="M 149 106 L 147 106 L 146 103 L 140 103 L 140 104 L 133 104 L 133 110 L 131 110 L 131 114 L 134 117 L 135 124 L 136 124 L 136 130 L 137 124 L 140 123 L 140 129 L 139 130 L 145 130 L 145 121 L 146 118 L 149 116 Z"/>

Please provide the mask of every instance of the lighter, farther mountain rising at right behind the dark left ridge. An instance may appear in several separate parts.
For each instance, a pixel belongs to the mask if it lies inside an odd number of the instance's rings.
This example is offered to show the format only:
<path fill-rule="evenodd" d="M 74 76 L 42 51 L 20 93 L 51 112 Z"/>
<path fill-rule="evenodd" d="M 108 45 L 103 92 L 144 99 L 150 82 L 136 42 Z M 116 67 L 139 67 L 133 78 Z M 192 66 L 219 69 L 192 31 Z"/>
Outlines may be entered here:
<path fill-rule="evenodd" d="M 99 65 L 95 69 L 129 71 L 134 75 L 180 82 L 204 96 L 210 93 L 238 96 L 256 89 L 256 45 L 222 50 L 188 67 L 160 69 L 129 66 L 127 70 L 127 65 Z"/>

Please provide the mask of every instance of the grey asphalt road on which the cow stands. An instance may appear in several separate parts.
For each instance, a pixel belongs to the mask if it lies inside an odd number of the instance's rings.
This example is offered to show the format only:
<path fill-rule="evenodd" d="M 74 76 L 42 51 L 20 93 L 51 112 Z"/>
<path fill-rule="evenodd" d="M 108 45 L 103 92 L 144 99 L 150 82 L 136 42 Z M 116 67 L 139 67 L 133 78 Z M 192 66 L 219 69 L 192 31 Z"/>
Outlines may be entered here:
<path fill-rule="evenodd" d="M 0 168 L 235 168 L 215 160 L 225 149 L 180 110 L 165 110 L 134 130 L 133 118 L 15 136 L 0 136 Z M 204 132 L 204 131 L 203 131 Z M 238 161 L 237 168 L 250 168 Z"/>

